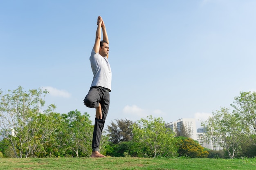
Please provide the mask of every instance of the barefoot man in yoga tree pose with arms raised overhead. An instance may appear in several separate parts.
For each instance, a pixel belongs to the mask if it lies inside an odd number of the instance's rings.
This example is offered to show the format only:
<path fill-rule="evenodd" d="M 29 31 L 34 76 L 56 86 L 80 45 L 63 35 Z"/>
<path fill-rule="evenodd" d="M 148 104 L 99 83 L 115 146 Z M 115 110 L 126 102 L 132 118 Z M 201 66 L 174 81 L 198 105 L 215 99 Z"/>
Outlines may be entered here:
<path fill-rule="evenodd" d="M 111 91 L 112 72 L 108 62 L 108 35 L 106 26 L 100 16 L 97 25 L 96 39 L 90 56 L 93 80 L 83 102 L 87 107 L 96 108 L 91 157 L 105 157 L 99 153 L 99 144 L 110 103 L 109 92 Z M 103 41 L 101 41 L 101 29 Z"/>

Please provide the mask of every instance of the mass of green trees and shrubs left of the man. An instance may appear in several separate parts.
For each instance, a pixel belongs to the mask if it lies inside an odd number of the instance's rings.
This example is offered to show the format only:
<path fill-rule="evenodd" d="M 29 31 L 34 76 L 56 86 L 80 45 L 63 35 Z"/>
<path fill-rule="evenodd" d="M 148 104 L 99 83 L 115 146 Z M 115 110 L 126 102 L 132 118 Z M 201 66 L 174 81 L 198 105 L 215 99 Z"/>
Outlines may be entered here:
<path fill-rule="evenodd" d="M 54 113 L 54 104 L 42 112 L 47 93 L 41 89 L 26 92 L 21 86 L 7 94 L 0 91 L 0 135 L 5 137 L 0 151 L 4 157 L 90 156 L 90 116 L 78 110 Z M 102 144 L 101 150 L 105 146 Z"/>

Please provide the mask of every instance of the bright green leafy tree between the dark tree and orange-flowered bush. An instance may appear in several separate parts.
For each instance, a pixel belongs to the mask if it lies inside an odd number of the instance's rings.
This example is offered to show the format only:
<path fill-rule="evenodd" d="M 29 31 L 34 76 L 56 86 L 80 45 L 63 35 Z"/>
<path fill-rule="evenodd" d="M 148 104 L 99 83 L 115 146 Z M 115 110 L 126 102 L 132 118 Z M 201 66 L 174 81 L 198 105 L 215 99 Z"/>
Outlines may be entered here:
<path fill-rule="evenodd" d="M 162 118 L 140 119 L 133 125 L 133 138 L 141 148 L 146 147 L 144 154 L 153 157 L 175 156 L 177 152 L 176 140 L 170 128 L 165 127 Z"/>

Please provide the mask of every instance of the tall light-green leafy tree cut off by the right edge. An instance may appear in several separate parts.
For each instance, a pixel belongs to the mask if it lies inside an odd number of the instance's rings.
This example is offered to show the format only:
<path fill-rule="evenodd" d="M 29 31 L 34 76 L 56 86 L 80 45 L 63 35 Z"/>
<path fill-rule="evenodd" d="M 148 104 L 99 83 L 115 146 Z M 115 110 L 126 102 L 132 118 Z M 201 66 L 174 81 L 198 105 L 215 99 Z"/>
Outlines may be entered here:
<path fill-rule="evenodd" d="M 256 146 L 256 92 L 240 92 L 231 106 L 245 126 L 248 141 Z"/>

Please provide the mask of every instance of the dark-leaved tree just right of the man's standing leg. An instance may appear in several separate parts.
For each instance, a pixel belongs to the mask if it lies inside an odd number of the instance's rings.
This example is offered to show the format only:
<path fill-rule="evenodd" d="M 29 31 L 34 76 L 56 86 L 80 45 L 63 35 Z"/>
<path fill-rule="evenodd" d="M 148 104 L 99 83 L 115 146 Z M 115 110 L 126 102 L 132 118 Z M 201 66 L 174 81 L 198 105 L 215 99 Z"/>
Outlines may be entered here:
<path fill-rule="evenodd" d="M 127 119 L 115 119 L 117 124 L 111 121 L 111 126 L 107 126 L 109 132 L 110 141 L 113 144 L 118 144 L 121 141 L 132 140 L 132 124 L 135 122 Z"/>

